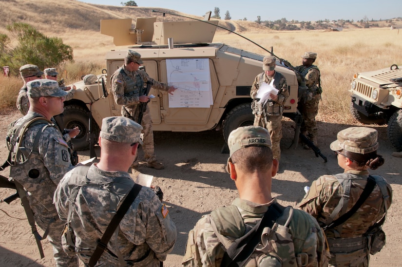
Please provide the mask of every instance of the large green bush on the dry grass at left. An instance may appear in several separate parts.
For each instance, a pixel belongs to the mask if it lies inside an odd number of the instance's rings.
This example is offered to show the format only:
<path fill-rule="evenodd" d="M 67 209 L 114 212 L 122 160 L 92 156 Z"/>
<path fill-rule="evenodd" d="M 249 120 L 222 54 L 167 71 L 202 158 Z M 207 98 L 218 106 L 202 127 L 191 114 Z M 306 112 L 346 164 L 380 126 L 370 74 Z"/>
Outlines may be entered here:
<path fill-rule="evenodd" d="M 49 38 L 33 26 L 15 22 L 7 30 L 15 38 L 11 42 L 7 35 L 0 35 L 0 64 L 9 66 L 10 74 L 18 74 L 19 67 L 35 64 L 39 69 L 57 67 L 64 61 L 73 61 L 73 49 L 61 38 Z M 16 43 L 12 46 L 11 43 Z"/>

